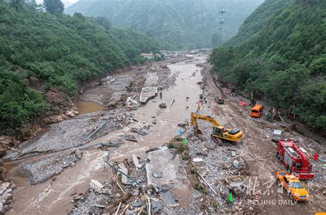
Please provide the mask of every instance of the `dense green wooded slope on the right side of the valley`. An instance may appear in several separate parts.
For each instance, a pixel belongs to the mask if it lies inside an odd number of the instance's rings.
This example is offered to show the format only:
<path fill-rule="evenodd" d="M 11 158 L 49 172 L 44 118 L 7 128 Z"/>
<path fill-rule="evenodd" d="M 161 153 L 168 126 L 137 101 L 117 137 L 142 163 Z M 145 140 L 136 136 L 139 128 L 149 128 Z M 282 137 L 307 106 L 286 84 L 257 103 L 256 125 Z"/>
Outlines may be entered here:
<path fill-rule="evenodd" d="M 210 60 L 222 82 L 325 132 L 325 47 L 326 1 L 266 0 Z"/>

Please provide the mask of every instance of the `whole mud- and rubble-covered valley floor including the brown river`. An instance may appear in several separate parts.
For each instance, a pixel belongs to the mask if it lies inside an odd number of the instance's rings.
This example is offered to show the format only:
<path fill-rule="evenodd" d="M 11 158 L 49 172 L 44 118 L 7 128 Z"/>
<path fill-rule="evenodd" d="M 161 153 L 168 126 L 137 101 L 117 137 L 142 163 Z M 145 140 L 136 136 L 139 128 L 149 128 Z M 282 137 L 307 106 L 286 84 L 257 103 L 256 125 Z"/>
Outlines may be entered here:
<path fill-rule="evenodd" d="M 243 99 L 240 96 L 226 97 L 225 104 L 217 104 L 214 96 L 226 89 L 213 81 L 210 65 L 197 65 L 204 63 L 202 56 L 177 63 L 180 60 L 132 67 L 85 88 L 81 99 L 98 102 L 105 110 L 52 124 L 6 155 L 6 179 L 17 187 L 9 190 L 13 203 L 7 213 L 325 211 L 325 161 L 311 161 L 316 177 L 307 183 L 310 201 L 291 202 L 285 192 L 278 192 L 276 172 L 285 167 L 276 159 L 270 140 L 275 128 L 288 126 L 268 122 L 265 116 L 250 117 L 250 107 L 237 104 Z M 154 76 L 157 83 L 152 81 Z M 140 92 L 149 82 L 158 93 L 142 104 Z M 208 98 L 202 110 L 200 95 Z M 166 107 L 160 107 L 162 103 Z M 195 134 L 192 125 L 188 126 L 191 112 L 240 128 L 243 141 L 217 146 L 210 138 L 212 124 L 200 120 L 203 134 Z M 325 156 L 323 142 L 318 144 L 289 129 L 285 137 L 296 139 L 311 155 Z M 227 201 L 230 192 L 232 204 Z"/>

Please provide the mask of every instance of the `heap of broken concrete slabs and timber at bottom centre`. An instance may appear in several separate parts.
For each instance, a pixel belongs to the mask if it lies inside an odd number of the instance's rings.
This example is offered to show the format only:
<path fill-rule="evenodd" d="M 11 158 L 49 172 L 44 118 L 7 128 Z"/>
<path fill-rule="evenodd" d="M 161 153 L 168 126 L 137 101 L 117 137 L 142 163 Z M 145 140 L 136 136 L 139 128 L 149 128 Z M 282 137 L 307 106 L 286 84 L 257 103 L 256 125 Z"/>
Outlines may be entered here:
<path fill-rule="evenodd" d="M 180 206 L 174 192 L 188 192 L 184 186 L 190 185 L 182 170 L 186 161 L 176 150 L 163 147 L 148 152 L 145 160 L 133 154 L 131 161 L 110 163 L 111 168 L 105 167 L 110 179 L 104 183 L 92 179 L 87 193 L 75 194 L 75 208 L 69 214 L 169 213 L 171 207 Z"/>

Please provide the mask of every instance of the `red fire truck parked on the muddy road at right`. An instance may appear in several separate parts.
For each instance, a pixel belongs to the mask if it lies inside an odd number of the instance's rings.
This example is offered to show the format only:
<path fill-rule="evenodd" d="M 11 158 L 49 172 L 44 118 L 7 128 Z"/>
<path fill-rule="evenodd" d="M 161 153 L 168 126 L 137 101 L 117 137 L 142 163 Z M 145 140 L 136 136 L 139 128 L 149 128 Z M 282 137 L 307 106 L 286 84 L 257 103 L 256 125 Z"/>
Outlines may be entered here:
<path fill-rule="evenodd" d="M 314 179 L 308 152 L 298 147 L 292 139 L 280 139 L 276 142 L 276 156 L 282 161 L 288 172 L 299 179 Z"/>

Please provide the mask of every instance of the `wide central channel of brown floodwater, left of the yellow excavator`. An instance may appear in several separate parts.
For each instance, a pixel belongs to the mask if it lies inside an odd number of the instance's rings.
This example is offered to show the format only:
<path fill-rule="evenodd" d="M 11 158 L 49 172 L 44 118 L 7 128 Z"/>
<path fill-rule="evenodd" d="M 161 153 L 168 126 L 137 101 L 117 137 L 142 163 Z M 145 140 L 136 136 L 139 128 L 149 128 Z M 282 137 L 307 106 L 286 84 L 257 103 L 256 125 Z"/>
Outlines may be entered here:
<path fill-rule="evenodd" d="M 142 127 L 144 124 L 151 124 L 151 134 L 138 137 L 138 142 L 126 142 L 113 157 L 115 160 L 123 160 L 138 155 L 142 159 L 146 158 L 146 150 L 160 147 L 177 136 L 180 129 L 178 123 L 191 121 L 191 112 L 198 108 L 199 95 L 202 89 L 197 82 L 202 81 L 202 67 L 197 67 L 198 63 L 204 63 L 205 59 L 191 63 L 175 63 L 168 65 L 171 73 L 177 74 L 175 85 L 162 91 L 162 98 L 157 96 L 149 100 L 142 108 L 134 111 L 135 119 L 138 123 L 134 127 Z M 172 100 L 174 100 L 171 105 Z M 154 102 L 153 102 L 154 101 Z M 159 104 L 166 103 L 166 109 L 160 109 Z M 171 106 L 170 106 L 171 105 Z M 154 118 L 155 117 L 155 118 Z M 152 124 L 155 120 L 156 124 Z"/>

